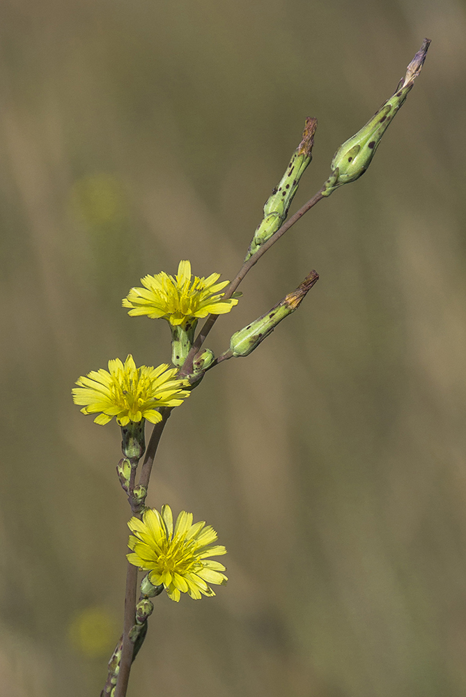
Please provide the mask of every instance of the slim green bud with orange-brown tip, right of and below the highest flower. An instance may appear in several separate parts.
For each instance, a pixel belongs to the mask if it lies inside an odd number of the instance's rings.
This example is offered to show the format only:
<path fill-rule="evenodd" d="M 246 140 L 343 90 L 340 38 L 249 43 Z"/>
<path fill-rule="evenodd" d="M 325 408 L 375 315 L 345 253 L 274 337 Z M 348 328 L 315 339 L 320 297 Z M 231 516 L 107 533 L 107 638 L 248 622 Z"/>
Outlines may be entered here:
<path fill-rule="evenodd" d="M 302 300 L 311 290 L 313 284 L 318 281 L 318 278 L 318 273 L 311 271 L 297 289 L 293 293 L 288 293 L 283 300 L 280 300 L 278 305 L 272 307 L 270 312 L 263 314 L 262 317 L 233 334 L 233 337 L 230 339 L 230 351 L 233 357 L 238 358 L 239 356 L 246 356 L 252 353 L 254 348 L 257 348 L 265 337 L 268 337 L 273 332 L 282 319 L 285 319 L 288 314 L 295 312 L 295 309 L 300 307 Z"/>

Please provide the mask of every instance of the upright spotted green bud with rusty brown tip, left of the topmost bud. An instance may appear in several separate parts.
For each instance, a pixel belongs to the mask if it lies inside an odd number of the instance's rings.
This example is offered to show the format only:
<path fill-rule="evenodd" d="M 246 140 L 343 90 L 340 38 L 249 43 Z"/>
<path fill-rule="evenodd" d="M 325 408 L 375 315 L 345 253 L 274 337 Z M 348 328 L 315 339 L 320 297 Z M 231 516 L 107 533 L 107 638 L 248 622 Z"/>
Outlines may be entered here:
<path fill-rule="evenodd" d="M 302 141 L 293 153 L 293 157 L 281 181 L 265 202 L 263 221 L 254 233 L 244 261 L 247 261 L 255 254 L 259 247 L 262 247 L 262 245 L 284 224 L 291 201 L 293 201 L 293 197 L 297 192 L 300 178 L 304 174 L 309 162 L 312 160 L 312 146 L 314 144 L 316 128 L 317 119 L 306 118 L 306 126 L 302 134 Z"/>

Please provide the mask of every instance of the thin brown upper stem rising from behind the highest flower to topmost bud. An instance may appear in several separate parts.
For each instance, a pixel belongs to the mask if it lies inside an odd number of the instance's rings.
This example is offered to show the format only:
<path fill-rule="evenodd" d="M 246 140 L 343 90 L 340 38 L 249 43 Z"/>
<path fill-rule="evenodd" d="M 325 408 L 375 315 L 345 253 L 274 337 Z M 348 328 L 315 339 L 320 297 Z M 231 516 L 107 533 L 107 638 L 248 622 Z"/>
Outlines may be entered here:
<path fill-rule="evenodd" d="M 284 235 L 290 227 L 293 227 L 295 222 L 300 220 L 304 213 L 307 213 L 308 210 L 311 210 L 313 206 L 315 206 L 321 199 L 325 198 L 323 196 L 323 190 L 324 187 L 322 187 L 309 201 L 307 201 L 304 206 L 300 208 L 300 210 L 297 210 L 295 215 L 292 215 L 289 220 L 284 222 L 284 224 L 277 230 L 276 233 L 272 235 L 272 237 L 267 240 L 265 244 L 262 245 L 262 247 L 259 247 L 257 252 L 253 254 L 253 256 L 250 257 L 247 261 L 244 262 L 238 273 L 235 275 L 233 278 L 233 281 L 230 282 L 230 284 L 227 286 L 225 294 L 224 294 L 224 299 L 226 300 L 227 298 L 231 298 L 235 290 L 238 288 L 240 283 L 242 282 L 242 279 L 244 276 L 251 270 L 251 268 L 261 259 L 261 256 L 267 252 L 267 250 L 270 250 L 270 247 L 274 245 L 277 240 L 281 238 L 282 235 Z M 208 333 L 212 329 L 213 325 L 217 321 L 219 315 L 218 314 L 210 314 L 208 318 L 205 320 L 203 323 L 203 326 L 201 330 L 199 331 L 199 334 L 196 337 L 196 341 L 192 345 L 191 351 L 189 351 L 187 358 L 185 362 L 182 365 L 182 368 L 180 369 L 180 377 L 189 375 L 189 373 L 192 372 L 192 362 L 194 360 L 194 356 L 196 353 L 199 351 L 199 348 L 201 348 L 202 344 L 205 342 L 205 339 L 207 338 Z"/>

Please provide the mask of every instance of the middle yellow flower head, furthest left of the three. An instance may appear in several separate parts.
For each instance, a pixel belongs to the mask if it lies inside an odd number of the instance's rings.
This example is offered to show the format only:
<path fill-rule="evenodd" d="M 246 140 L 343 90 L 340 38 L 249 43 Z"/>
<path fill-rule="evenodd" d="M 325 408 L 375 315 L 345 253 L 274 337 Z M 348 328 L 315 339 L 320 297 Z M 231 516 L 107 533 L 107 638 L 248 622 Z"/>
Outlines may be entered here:
<path fill-rule="evenodd" d="M 107 424 L 114 416 L 120 426 L 130 421 L 147 419 L 153 424 L 162 420 L 156 409 L 160 406 L 180 406 L 189 397 L 184 390 L 185 383 L 176 379 L 178 370 L 169 369 L 166 363 L 157 368 L 134 365 L 132 355 L 125 363 L 119 358 L 109 360 L 109 370 L 92 370 L 86 377 L 81 376 L 73 388 L 75 404 L 84 404 L 81 413 L 95 414 L 96 424 Z"/>

